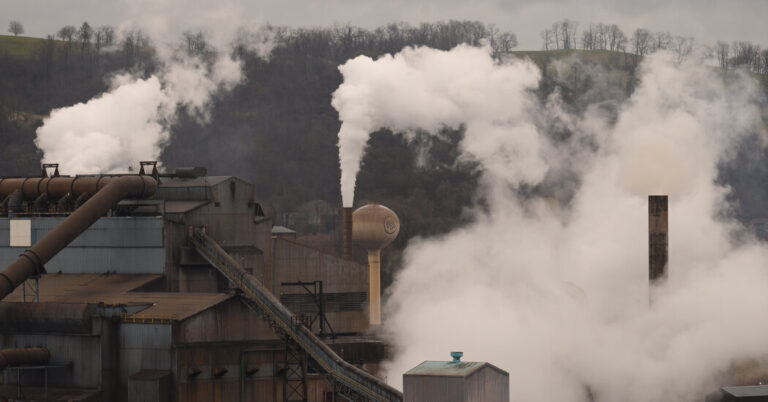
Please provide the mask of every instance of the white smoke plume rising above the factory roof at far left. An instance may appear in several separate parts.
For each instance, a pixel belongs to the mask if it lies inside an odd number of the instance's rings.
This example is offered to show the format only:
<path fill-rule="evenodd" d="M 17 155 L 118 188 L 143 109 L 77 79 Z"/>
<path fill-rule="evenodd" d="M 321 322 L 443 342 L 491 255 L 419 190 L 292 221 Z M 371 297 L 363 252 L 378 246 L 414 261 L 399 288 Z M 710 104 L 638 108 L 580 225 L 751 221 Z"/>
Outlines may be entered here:
<path fill-rule="evenodd" d="M 53 110 L 35 140 L 43 161 L 58 162 L 68 173 L 115 173 L 158 160 L 178 108 L 207 121 L 211 96 L 242 79 L 240 62 L 226 54 L 164 58 L 164 67 L 149 78 L 117 75 L 110 91 Z"/>

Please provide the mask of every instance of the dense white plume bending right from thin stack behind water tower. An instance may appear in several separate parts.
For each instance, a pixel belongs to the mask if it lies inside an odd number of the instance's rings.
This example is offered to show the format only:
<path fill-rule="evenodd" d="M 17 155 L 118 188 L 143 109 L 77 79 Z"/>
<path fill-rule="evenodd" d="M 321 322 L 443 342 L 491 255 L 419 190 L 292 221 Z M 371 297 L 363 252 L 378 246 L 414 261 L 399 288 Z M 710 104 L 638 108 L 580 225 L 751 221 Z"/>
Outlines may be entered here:
<path fill-rule="evenodd" d="M 339 112 L 339 161 L 344 206 L 354 201 L 355 180 L 372 131 L 397 128 L 413 138 L 415 129 L 466 125 L 463 150 L 487 161 L 486 168 L 514 183 L 535 183 L 546 166 L 542 144 L 527 119 L 528 100 L 516 94 L 538 84 L 531 63 L 499 65 L 482 48 L 451 52 L 406 48 L 377 60 L 358 56 L 339 67 L 344 83 L 333 94 Z M 486 102 L 507 99 L 511 104 Z M 499 135 L 515 130 L 514 136 Z M 527 166 L 509 169 L 509 163 Z"/>

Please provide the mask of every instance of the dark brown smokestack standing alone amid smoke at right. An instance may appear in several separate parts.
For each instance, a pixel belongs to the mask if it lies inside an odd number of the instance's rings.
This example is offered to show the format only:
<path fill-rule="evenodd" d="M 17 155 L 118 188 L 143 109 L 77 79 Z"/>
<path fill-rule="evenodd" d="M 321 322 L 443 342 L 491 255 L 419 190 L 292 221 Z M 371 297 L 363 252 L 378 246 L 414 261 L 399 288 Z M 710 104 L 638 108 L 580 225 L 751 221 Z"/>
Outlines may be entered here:
<path fill-rule="evenodd" d="M 648 278 L 651 285 L 667 277 L 669 208 L 666 195 L 648 196 Z"/>

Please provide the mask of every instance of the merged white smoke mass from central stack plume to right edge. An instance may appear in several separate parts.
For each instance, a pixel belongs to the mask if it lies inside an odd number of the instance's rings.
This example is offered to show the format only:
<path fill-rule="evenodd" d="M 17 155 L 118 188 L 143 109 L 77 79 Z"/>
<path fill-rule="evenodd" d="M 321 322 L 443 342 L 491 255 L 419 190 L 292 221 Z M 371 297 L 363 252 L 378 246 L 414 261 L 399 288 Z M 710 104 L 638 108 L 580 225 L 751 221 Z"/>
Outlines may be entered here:
<path fill-rule="evenodd" d="M 536 66 L 496 63 L 488 49 L 407 48 L 340 70 L 345 205 L 381 127 L 412 139 L 464 125 L 460 150 L 484 172 L 487 206 L 474 222 L 405 251 L 385 305 L 394 385 L 460 347 L 508 370 L 513 400 L 546 389 L 553 401 L 690 401 L 734 359 L 768 354 L 768 249 L 724 217 L 729 190 L 716 182 L 739 141 L 765 135 L 748 76 L 726 85 L 696 60 L 646 57 L 613 123 L 598 107 L 562 110 L 556 94 L 541 105 Z M 571 137 L 537 127 L 553 116 L 569 121 Z M 561 185 L 564 171 L 579 185 L 561 210 L 516 196 L 521 184 Z M 650 307 L 648 194 L 669 194 L 674 211 L 674 269 Z"/>

